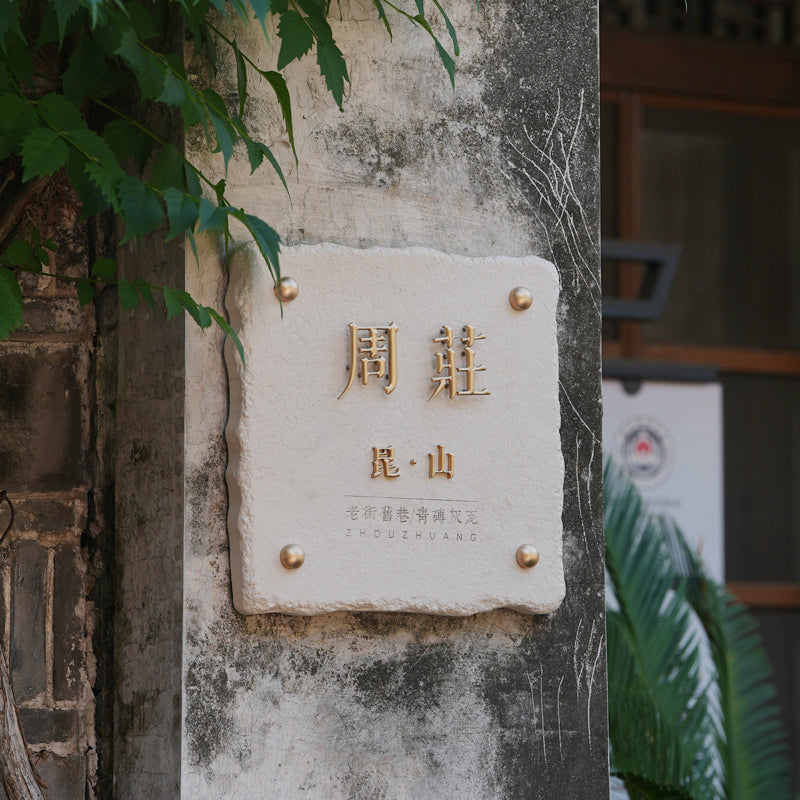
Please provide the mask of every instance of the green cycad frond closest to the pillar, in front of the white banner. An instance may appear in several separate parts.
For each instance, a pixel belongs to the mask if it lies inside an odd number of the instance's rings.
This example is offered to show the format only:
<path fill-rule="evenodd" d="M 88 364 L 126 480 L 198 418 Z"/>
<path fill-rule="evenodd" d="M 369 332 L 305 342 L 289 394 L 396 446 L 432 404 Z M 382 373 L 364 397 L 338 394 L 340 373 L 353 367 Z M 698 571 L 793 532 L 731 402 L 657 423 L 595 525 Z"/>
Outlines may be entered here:
<path fill-rule="evenodd" d="M 641 775 L 698 800 L 716 800 L 710 677 L 701 626 L 675 591 L 658 520 L 613 468 L 606 474 L 606 565 L 619 611 L 608 612 L 609 716 L 618 774 Z M 625 731 L 631 736 L 626 740 Z M 644 771 L 649 770 L 649 771 Z"/>

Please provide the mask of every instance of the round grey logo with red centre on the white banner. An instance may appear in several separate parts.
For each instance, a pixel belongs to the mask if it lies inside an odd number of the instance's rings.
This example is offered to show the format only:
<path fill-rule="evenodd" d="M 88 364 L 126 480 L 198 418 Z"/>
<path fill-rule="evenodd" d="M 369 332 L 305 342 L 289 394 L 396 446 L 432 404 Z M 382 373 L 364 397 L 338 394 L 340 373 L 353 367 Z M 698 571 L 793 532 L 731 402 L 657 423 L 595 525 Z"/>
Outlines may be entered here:
<path fill-rule="evenodd" d="M 621 425 L 614 455 L 639 486 L 650 488 L 669 474 L 675 447 L 662 422 L 653 417 L 633 417 Z"/>

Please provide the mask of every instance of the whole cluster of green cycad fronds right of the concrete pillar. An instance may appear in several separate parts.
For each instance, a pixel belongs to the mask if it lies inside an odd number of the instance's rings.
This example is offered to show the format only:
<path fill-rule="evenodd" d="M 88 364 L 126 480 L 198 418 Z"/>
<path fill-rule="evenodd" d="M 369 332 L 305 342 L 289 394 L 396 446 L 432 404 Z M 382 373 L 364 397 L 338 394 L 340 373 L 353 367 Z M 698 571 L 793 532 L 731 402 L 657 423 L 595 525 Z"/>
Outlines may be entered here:
<path fill-rule="evenodd" d="M 789 800 L 755 621 L 627 476 L 609 465 L 605 481 L 612 770 L 632 798 Z"/>

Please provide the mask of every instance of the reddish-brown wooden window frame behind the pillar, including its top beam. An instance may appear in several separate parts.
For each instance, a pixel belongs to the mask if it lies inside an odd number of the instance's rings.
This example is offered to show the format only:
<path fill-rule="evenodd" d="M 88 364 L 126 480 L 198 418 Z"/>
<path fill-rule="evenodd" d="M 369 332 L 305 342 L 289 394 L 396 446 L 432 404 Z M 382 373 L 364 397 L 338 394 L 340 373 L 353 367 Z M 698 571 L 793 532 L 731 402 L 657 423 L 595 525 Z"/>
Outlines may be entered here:
<path fill-rule="evenodd" d="M 642 112 L 646 107 L 800 120 L 800 52 L 690 37 L 600 32 L 600 99 L 617 118 L 617 231 L 642 233 Z M 620 264 L 619 291 L 636 296 L 639 272 Z M 606 358 L 713 366 L 726 374 L 800 377 L 800 350 L 648 344 L 641 322 L 619 324 Z M 800 583 L 731 582 L 752 608 L 800 610 Z"/>

